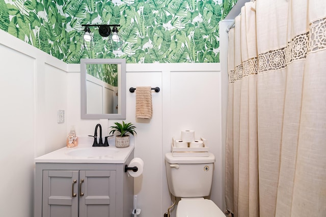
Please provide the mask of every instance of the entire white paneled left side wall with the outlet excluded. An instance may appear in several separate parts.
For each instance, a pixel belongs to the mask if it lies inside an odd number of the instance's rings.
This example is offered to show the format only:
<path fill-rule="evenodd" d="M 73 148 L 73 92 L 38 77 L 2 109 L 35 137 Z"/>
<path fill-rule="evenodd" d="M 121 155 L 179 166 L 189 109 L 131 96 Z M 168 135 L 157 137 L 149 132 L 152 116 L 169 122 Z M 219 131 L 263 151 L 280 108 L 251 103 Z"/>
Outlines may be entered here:
<path fill-rule="evenodd" d="M 33 216 L 34 158 L 64 146 L 67 64 L 0 30 L 1 216 Z"/>

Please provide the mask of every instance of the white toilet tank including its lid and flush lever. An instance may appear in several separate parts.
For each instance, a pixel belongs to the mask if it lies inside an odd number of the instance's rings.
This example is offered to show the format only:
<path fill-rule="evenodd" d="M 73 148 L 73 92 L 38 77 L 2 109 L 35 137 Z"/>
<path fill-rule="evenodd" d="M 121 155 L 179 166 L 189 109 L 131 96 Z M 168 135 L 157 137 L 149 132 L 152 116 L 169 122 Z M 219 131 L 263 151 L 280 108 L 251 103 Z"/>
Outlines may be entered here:
<path fill-rule="evenodd" d="M 205 197 L 212 186 L 215 157 L 173 157 L 166 153 L 169 190 L 176 197 Z"/>

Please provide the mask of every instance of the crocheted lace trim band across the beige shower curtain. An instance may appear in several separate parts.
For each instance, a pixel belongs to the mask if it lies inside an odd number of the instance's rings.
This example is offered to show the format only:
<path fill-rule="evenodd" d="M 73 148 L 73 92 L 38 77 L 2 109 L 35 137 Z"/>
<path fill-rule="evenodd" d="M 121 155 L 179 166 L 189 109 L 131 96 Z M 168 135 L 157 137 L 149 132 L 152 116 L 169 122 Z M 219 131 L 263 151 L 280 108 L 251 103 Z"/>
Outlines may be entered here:
<path fill-rule="evenodd" d="M 229 83 L 249 75 L 286 68 L 292 61 L 305 59 L 308 53 L 326 48 L 326 18 L 311 22 L 309 31 L 293 37 L 285 47 L 270 50 L 243 61 L 229 71 Z"/>

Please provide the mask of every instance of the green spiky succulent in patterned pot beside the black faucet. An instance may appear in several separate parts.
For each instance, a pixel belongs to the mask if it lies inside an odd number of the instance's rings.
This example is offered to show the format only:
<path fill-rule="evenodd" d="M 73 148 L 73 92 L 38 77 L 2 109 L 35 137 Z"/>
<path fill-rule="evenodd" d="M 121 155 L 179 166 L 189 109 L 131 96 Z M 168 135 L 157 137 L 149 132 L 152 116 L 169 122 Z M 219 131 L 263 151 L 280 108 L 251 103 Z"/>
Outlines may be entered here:
<path fill-rule="evenodd" d="M 116 131 L 119 132 L 119 135 L 116 135 L 116 147 L 125 148 L 130 145 L 130 136 L 137 134 L 134 130 L 136 127 L 132 123 L 125 123 L 122 121 L 122 124 L 115 122 L 114 126 L 111 126 L 113 130 L 110 131 L 110 134 L 114 134 Z"/>

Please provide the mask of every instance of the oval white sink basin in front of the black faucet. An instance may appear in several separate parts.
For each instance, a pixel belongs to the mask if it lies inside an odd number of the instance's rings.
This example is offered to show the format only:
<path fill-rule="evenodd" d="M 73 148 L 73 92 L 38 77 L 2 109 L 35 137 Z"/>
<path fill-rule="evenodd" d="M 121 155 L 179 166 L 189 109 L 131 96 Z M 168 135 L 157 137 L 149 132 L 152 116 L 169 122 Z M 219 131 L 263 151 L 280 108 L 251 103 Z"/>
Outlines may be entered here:
<path fill-rule="evenodd" d="M 119 151 L 107 147 L 78 148 L 68 151 L 69 156 L 86 158 L 113 158 Z"/>

